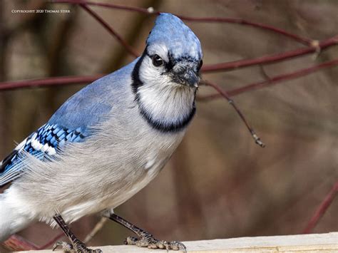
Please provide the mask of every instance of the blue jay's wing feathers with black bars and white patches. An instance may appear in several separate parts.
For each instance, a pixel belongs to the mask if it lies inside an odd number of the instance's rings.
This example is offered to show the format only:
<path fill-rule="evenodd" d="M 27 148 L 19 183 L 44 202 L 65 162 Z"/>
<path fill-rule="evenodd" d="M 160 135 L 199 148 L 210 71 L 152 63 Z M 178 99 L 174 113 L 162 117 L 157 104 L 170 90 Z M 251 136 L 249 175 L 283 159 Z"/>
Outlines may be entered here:
<path fill-rule="evenodd" d="M 15 180 L 23 172 L 21 157 L 25 152 L 39 160 L 47 160 L 60 152 L 65 143 L 78 143 L 85 138 L 86 134 L 81 128 L 74 130 L 50 123 L 41 126 L 0 162 L 0 186 Z"/>

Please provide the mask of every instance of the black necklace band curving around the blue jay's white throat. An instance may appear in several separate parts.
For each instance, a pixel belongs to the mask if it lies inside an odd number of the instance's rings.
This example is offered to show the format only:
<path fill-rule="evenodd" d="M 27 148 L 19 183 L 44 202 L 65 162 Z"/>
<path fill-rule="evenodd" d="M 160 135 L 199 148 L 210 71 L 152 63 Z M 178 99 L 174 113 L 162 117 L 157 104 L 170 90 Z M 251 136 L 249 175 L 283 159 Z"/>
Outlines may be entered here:
<path fill-rule="evenodd" d="M 178 120 L 177 122 L 166 123 L 156 118 L 153 118 L 153 116 L 150 115 L 150 113 L 145 109 L 143 103 L 140 101 L 140 95 L 138 94 L 138 88 L 140 86 L 143 86 L 143 82 L 140 81 L 140 76 L 139 76 L 140 65 L 143 61 L 143 58 L 146 55 L 147 55 L 147 48 L 145 48 L 145 51 L 143 52 L 142 56 L 140 56 L 140 59 L 135 64 L 133 72 L 131 73 L 131 78 L 133 80 L 133 82 L 131 83 L 131 86 L 133 89 L 133 93 L 135 95 L 135 102 L 138 104 L 138 108 L 140 110 L 140 114 L 152 128 L 159 130 L 160 132 L 163 132 L 163 133 L 179 132 L 180 130 L 183 130 L 193 119 L 193 116 L 195 115 L 195 112 L 196 112 L 195 101 L 193 102 L 193 108 L 191 109 L 189 115 L 186 115 L 182 120 Z"/>

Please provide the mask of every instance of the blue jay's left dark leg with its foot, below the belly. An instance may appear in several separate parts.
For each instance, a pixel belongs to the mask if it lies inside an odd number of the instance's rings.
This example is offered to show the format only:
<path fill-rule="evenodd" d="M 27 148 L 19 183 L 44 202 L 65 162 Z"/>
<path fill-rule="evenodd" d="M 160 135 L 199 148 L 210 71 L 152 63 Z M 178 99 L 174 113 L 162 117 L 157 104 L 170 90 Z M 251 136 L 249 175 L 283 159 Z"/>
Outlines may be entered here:
<path fill-rule="evenodd" d="M 61 246 L 64 252 L 88 252 L 88 253 L 101 253 L 101 249 L 88 249 L 86 244 L 81 242 L 71 229 L 67 226 L 66 222 L 63 220 L 61 215 L 55 215 L 53 219 L 56 221 L 58 226 L 62 229 L 62 231 L 66 234 L 66 237 L 71 241 L 71 244 L 67 242 L 56 242 L 53 246 L 53 251 Z"/>

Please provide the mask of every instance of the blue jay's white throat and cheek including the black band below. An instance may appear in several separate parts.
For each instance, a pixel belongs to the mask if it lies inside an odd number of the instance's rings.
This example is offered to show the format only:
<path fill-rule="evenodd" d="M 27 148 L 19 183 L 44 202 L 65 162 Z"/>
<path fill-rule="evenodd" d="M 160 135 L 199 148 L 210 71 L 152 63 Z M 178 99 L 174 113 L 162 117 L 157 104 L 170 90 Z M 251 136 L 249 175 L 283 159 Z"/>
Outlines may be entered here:
<path fill-rule="evenodd" d="M 144 65 L 147 62 L 140 64 L 140 83 L 135 89 L 140 113 L 158 130 L 173 132 L 185 128 L 195 114 L 196 89 L 173 83 L 169 76 Z"/>

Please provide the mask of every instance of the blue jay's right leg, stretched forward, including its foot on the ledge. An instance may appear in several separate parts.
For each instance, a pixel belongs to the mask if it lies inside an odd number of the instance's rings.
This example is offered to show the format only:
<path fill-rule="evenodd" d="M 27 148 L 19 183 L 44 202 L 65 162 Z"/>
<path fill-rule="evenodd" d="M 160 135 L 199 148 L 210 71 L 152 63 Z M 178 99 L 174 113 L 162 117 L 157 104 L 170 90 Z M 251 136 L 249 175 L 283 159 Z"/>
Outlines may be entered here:
<path fill-rule="evenodd" d="M 139 227 L 136 227 L 134 224 L 131 224 L 127 220 L 124 220 L 122 217 L 110 213 L 110 214 L 104 214 L 105 217 L 108 217 L 109 219 L 113 220 L 114 222 L 118 222 L 119 224 L 123 225 L 124 227 L 130 229 L 135 234 L 138 235 L 137 237 L 127 237 L 124 240 L 124 244 L 128 245 L 136 245 L 138 247 L 148 247 L 149 249 L 173 249 L 173 250 L 183 250 L 183 252 L 187 252 L 187 249 L 185 248 L 185 245 L 182 242 L 166 242 L 166 241 L 160 241 L 153 237 L 153 234 L 150 234 L 146 232 L 143 229 L 140 229 Z"/>

